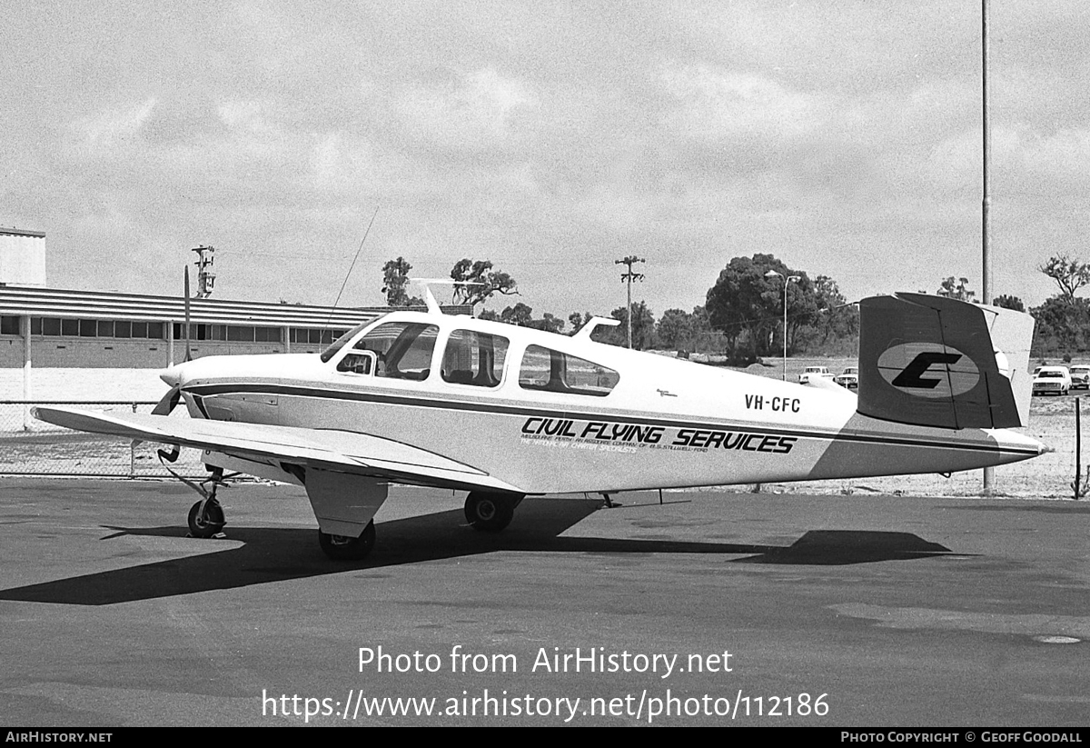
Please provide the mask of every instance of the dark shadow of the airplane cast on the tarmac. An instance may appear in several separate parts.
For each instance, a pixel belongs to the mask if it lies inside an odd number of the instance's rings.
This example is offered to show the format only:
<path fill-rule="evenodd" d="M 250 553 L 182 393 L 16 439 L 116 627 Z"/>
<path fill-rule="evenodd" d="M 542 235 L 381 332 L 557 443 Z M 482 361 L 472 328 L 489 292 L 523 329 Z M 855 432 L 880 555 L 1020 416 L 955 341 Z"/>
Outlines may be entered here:
<path fill-rule="evenodd" d="M 728 559 L 730 563 L 811 566 L 950 554 L 949 548 L 906 532 L 811 530 L 789 546 L 559 536 L 596 506 L 586 502 L 528 500 L 519 508 L 511 527 L 499 534 L 470 530 L 460 510 L 383 522 L 378 524 L 378 545 L 374 554 L 355 563 L 326 558 L 318 548 L 315 530 L 228 526 L 230 539 L 244 545 L 0 590 L 0 600 L 111 605 L 494 552 L 720 554 L 744 556 Z M 105 542 L 122 535 L 184 538 L 186 532 L 179 527 L 106 529 L 112 532 L 104 535 Z M 206 547 L 202 545 L 202 550 Z"/>

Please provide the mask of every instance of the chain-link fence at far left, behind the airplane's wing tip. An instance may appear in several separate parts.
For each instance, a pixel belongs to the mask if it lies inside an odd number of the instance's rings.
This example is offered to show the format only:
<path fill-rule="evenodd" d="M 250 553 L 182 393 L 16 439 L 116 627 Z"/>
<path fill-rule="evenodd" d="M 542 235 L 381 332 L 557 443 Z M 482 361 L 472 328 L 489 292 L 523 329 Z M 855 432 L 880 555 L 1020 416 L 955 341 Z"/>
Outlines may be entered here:
<path fill-rule="evenodd" d="M 170 478 L 159 461 L 161 444 L 70 431 L 38 421 L 34 406 L 72 406 L 102 413 L 150 413 L 154 401 L 0 400 L 0 475 L 82 475 L 88 478 Z M 187 418 L 184 408 L 171 415 Z M 182 449 L 171 470 L 204 478 L 207 470 L 196 449 Z"/>

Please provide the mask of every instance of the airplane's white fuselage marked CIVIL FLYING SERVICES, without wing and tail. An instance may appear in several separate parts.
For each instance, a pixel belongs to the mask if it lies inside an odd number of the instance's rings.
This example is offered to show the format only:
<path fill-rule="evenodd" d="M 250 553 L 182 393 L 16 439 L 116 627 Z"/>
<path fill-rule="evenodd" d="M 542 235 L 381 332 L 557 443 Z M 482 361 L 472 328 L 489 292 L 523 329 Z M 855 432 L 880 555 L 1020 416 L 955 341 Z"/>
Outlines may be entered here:
<path fill-rule="evenodd" d="M 361 351 L 377 362 L 382 355 L 359 341 L 397 324 L 434 328 L 414 369 L 383 376 L 377 363 L 362 372 L 346 365 Z M 467 336 L 479 348 L 487 340 L 489 355 L 501 345 L 502 362 L 452 354 Z M 590 384 L 554 385 L 558 372 Z M 214 357 L 178 367 L 177 376 L 194 418 L 382 435 L 525 494 L 945 473 L 1041 451 L 1010 430 L 868 418 L 846 390 L 464 316 L 395 312 L 328 358 Z"/>

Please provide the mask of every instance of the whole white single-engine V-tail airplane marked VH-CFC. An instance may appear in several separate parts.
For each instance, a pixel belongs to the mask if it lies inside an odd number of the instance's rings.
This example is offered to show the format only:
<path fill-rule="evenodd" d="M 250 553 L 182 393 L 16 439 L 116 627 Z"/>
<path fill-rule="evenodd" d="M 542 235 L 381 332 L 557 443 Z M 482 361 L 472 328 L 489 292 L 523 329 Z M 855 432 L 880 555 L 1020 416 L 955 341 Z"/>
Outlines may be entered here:
<path fill-rule="evenodd" d="M 197 536 L 225 523 L 223 470 L 299 483 L 337 559 L 371 551 L 389 483 L 469 491 L 470 524 L 499 531 L 530 494 L 948 473 L 1045 450 L 1010 431 L 1027 424 L 1033 331 L 1012 310 L 864 299 L 857 398 L 591 340 L 611 319 L 568 337 L 444 315 L 425 297 L 427 312 L 390 312 L 320 354 L 171 366 L 150 415 L 35 414 L 204 450 Z M 191 418 L 167 418 L 180 398 Z"/>

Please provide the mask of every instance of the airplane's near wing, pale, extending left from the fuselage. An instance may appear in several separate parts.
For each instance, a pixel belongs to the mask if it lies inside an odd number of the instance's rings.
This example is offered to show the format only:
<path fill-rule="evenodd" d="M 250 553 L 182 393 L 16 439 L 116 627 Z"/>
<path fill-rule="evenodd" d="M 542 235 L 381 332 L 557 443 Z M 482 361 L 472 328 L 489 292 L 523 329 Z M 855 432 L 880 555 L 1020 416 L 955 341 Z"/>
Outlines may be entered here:
<path fill-rule="evenodd" d="M 65 429 L 210 449 L 245 460 L 302 466 L 397 483 L 524 493 L 479 468 L 371 434 L 141 413 L 94 413 L 74 408 L 37 407 L 32 412 L 41 421 Z"/>

